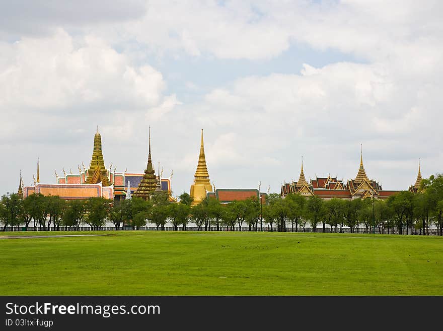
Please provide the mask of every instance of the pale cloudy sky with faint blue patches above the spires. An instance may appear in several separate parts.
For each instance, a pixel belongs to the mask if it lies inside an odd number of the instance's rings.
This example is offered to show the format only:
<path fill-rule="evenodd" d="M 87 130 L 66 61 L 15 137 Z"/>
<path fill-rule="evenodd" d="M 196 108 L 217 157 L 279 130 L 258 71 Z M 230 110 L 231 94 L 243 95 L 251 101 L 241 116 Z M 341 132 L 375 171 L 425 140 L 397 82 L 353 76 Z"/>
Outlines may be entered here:
<path fill-rule="evenodd" d="M 440 1 L 0 2 L 1 192 L 91 160 L 189 192 L 204 129 L 217 188 L 279 192 L 367 175 L 384 189 L 442 172 Z"/>

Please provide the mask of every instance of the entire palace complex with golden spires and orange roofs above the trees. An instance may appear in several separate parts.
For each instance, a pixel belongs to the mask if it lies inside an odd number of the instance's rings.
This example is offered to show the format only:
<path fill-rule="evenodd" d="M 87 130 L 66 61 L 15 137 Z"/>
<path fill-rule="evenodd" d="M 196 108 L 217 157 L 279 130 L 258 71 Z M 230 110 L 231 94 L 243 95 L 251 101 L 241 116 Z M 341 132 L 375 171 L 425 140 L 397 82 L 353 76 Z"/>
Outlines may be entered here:
<path fill-rule="evenodd" d="M 34 185 L 24 186 L 23 179 L 19 180 L 19 194 L 24 197 L 41 193 L 43 195 L 58 195 L 64 200 L 86 199 L 89 197 L 105 197 L 109 200 L 118 201 L 131 198 L 131 196 L 141 197 L 148 200 L 155 191 L 167 192 L 170 202 L 177 202 L 171 189 L 172 173 L 168 178 L 162 177 L 160 163 L 156 175 L 155 167 L 151 156 L 151 128 L 149 134 L 149 147 L 147 164 L 144 172 L 116 172 L 116 167 L 112 169 L 105 167 L 102 153 L 102 139 L 98 131 L 94 136 L 93 153 L 89 168 L 82 163 L 78 166 L 79 172 L 73 174 L 66 173 L 63 168 L 63 175 L 56 176 L 55 183 L 40 183 L 40 166 L 37 164 L 37 178 L 34 176 Z M 409 186 L 409 190 L 417 192 L 421 182 L 420 164 L 418 165 L 418 175 L 414 185 Z M 395 190 L 384 190 L 375 180 L 369 179 L 363 167 L 363 156 L 360 149 L 360 166 L 357 175 L 347 181 L 338 180 L 336 177 L 317 177 L 309 182 L 305 178 L 303 161 L 299 180 L 291 183 L 284 183 L 281 186 L 280 195 L 285 197 L 289 193 L 300 193 L 304 196 L 316 195 L 324 199 L 329 198 L 364 198 L 375 197 L 385 199 Z M 194 174 L 194 182 L 190 186 L 190 196 L 193 198 L 193 205 L 201 203 L 205 197 L 217 198 L 221 203 L 227 204 L 235 200 L 245 200 L 256 197 L 262 204 L 266 203 L 267 193 L 258 189 L 229 189 L 215 188 L 213 182 L 209 180 L 209 173 L 206 166 L 203 143 L 203 129 L 200 138 L 200 153 L 197 162 L 197 169 Z"/>

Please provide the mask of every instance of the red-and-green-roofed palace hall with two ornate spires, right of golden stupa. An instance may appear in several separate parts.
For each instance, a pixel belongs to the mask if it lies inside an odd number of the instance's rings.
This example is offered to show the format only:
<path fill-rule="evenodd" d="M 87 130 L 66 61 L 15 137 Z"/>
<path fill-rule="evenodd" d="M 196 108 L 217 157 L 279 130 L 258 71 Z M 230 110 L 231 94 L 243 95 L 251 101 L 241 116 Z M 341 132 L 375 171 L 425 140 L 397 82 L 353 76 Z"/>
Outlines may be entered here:
<path fill-rule="evenodd" d="M 333 197 L 342 199 L 354 199 L 359 197 L 385 199 L 397 192 L 399 191 L 383 190 L 382 186 L 377 181 L 367 177 L 363 166 L 363 153 L 360 146 L 360 166 L 354 179 L 349 179 L 344 183 L 343 180 L 338 180 L 336 177 L 316 176 L 315 179 L 312 179 L 310 183 L 308 183 L 305 179 L 302 160 L 302 170 L 300 172 L 299 180 L 297 182 L 284 183 L 284 185 L 281 186 L 280 195 L 284 197 L 289 193 L 300 193 L 305 196 L 317 195 L 324 199 L 330 199 Z"/>

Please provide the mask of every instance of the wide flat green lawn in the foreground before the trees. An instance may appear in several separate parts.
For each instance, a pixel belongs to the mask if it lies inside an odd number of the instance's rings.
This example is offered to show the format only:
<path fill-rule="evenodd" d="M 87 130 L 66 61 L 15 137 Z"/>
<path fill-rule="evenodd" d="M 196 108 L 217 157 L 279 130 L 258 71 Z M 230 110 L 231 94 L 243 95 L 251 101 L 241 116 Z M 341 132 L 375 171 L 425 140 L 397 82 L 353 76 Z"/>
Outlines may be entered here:
<path fill-rule="evenodd" d="M 110 235 L 1 239 L 0 294 L 443 295 L 441 237 L 95 233 Z"/>

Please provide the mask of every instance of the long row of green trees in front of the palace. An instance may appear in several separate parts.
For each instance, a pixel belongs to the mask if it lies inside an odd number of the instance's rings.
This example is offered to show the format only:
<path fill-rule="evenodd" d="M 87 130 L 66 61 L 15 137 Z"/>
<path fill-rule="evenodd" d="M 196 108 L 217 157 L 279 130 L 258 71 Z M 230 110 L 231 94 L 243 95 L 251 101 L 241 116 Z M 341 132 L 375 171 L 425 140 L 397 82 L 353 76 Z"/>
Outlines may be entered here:
<path fill-rule="evenodd" d="M 320 224 L 323 232 L 366 232 L 376 228 L 380 233 L 429 234 L 429 226 L 436 225 L 443 235 L 443 175 L 432 175 L 423 179 L 421 192 L 400 191 L 386 201 L 374 198 L 322 200 L 318 196 L 304 197 L 288 194 L 281 198 L 277 193 L 267 197 L 267 204 L 261 206 L 257 198 L 220 204 L 214 198 L 206 198 L 199 205 L 192 206 L 187 193 L 179 197 L 179 203 L 169 203 L 168 194 L 155 192 L 149 201 L 133 197 L 131 200 L 109 202 L 101 197 L 89 200 L 64 201 L 58 196 L 32 194 L 22 200 L 17 194 L 6 194 L 0 203 L 0 221 L 6 231 L 8 226 L 33 225 L 40 230 L 60 228 L 77 230 L 81 224 L 101 229 L 105 222 L 113 222 L 115 229 L 138 229 L 146 222 L 154 223 L 164 230 L 167 222 L 174 230 L 186 230 L 194 223 L 197 230 L 207 231 L 221 228 L 257 231 L 258 225 L 268 225 L 271 231 L 305 231 L 309 224 L 317 231 Z M 326 226 L 328 225 L 328 227 Z"/>

